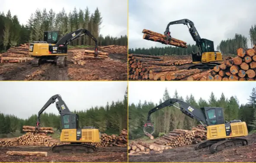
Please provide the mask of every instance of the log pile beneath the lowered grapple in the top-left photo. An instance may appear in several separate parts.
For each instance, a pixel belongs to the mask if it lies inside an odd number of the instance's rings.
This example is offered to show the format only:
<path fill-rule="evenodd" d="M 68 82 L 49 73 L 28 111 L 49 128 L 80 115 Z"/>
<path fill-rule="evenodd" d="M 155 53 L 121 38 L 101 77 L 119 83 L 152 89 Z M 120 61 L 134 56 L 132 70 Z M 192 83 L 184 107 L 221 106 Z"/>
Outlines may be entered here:
<path fill-rule="evenodd" d="M 86 62 L 84 60 L 88 59 L 107 59 L 109 58 L 109 53 L 98 51 L 97 57 L 95 57 L 95 53 L 93 50 L 84 50 L 84 49 L 76 49 L 70 50 L 69 52 L 73 52 L 73 57 L 71 62 L 75 65 L 84 65 Z"/>

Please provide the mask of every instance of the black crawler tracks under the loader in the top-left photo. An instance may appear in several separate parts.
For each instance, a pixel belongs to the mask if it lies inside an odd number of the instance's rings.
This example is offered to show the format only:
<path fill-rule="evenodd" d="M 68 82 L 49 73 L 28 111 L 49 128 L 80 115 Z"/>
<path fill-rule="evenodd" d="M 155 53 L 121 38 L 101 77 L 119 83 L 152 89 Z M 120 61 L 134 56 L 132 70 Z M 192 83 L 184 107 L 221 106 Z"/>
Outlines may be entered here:
<path fill-rule="evenodd" d="M 66 55 L 35 57 L 32 60 L 32 66 L 40 66 L 45 62 L 53 62 L 58 67 L 62 68 L 67 66 L 67 57 Z"/>

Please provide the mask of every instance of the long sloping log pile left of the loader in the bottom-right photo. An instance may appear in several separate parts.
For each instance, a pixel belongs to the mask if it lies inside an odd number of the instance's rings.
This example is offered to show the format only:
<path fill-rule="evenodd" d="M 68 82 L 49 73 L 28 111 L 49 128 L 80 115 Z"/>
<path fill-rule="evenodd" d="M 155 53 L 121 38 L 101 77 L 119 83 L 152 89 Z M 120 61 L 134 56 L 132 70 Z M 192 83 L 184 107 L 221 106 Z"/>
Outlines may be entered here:
<path fill-rule="evenodd" d="M 166 149 L 201 142 L 206 139 L 206 133 L 207 131 L 202 125 L 192 127 L 192 130 L 174 129 L 173 131 L 163 135 L 161 138 L 155 139 L 153 143 L 146 143 L 142 141 L 131 142 L 128 146 L 128 150 L 130 154 L 134 154 L 136 152 L 143 153 L 150 150 L 161 152 Z"/>

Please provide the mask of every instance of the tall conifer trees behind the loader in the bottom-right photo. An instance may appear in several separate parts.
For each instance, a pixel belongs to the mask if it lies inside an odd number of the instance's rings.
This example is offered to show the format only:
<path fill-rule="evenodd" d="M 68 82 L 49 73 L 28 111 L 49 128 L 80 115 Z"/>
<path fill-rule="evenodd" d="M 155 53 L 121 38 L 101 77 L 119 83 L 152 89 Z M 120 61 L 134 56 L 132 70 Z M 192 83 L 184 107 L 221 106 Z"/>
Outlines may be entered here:
<path fill-rule="evenodd" d="M 170 98 L 178 98 L 187 102 L 195 108 L 200 107 L 221 107 L 224 108 L 224 119 L 230 120 L 242 120 L 246 122 L 249 131 L 256 129 L 256 88 L 252 89 L 248 103 L 245 105 L 239 105 L 239 100 L 236 95 L 226 98 L 224 93 L 221 94 L 221 98 L 217 99 L 216 95 L 211 92 L 208 100 L 200 98 L 195 100 L 192 94 L 186 95 L 186 98 L 180 96 L 178 91 L 175 90 L 174 95 L 171 97 L 167 89 L 163 93 L 163 98 L 159 100 L 159 104 Z M 138 104 L 129 105 L 129 139 L 142 138 L 145 136 L 143 132 L 143 126 L 147 121 L 148 111 L 153 109 L 159 104 L 154 104 L 150 101 L 139 101 Z M 175 104 L 179 106 L 178 104 Z M 154 123 L 155 132 L 154 136 L 163 135 L 173 129 L 191 129 L 192 126 L 196 126 L 198 123 L 195 119 L 192 119 L 183 114 L 178 108 L 171 106 L 163 108 L 159 111 L 151 114 L 151 121 Z"/>

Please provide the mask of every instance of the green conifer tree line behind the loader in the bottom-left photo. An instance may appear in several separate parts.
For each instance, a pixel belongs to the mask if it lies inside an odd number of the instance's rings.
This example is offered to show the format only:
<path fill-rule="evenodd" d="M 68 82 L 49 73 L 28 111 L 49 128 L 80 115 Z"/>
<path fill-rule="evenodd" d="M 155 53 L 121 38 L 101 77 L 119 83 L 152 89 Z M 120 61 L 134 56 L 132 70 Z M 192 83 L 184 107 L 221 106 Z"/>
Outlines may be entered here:
<path fill-rule="evenodd" d="M 95 106 L 83 111 L 72 111 L 79 116 L 79 126 L 94 126 L 100 132 L 119 134 L 122 129 L 127 129 L 127 89 L 122 101 L 112 101 L 106 106 Z M 39 111 L 39 110 L 38 110 Z M 35 126 L 37 114 L 27 119 L 18 118 L 14 115 L 0 113 L 0 134 L 6 137 L 7 134 L 24 133 L 22 126 Z M 40 117 L 40 126 L 53 127 L 61 131 L 61 117 L 53 113 L 43 113 Z"/>

